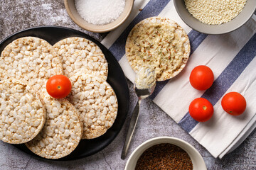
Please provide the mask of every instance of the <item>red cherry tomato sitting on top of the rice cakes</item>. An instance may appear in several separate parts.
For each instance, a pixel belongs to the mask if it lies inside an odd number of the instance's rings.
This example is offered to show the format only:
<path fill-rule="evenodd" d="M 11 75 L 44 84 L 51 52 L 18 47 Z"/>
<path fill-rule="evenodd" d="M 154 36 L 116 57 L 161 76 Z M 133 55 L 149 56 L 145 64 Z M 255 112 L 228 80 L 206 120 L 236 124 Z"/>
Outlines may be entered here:
<path fill-rule="evenodd" d="M 53 98 L 65 98 L 70 94 L 71 82 L 64 75 L 50 77 L 46 83 L 46 90 Z"/>

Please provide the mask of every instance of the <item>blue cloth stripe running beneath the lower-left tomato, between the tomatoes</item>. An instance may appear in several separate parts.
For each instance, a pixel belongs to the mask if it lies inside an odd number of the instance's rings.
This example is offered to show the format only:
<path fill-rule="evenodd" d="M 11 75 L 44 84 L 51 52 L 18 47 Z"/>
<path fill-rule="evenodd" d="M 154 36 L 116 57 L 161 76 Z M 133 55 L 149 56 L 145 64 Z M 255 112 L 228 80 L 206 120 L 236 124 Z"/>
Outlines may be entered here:
<path fill-rule="evenodd" d="M 210 101 L 210 103 L 212 103 L 214 106 L 215 103 L 220 100 L 220 98 L 235 82 L 235 80 L 238 79 L 247 65 L 252 62 L 255 56 L 256 35 L 253 35 L 252 38 L 245 44 L 245 46 L 242 47 L 242 50 L 238 52 L 238 55 L 236 55 L 234 59 L 228 64 L 228 66 L 223 70 L 220 76 L 215 79 L 210 89 L 206 90 L 201 97 L 208 99 L 208 101 Z M 181 127 L 186 130 L 186 132 L 190 132 L 198 124 L 198 121 L 193 120 L 189 113 L 186 113 L 186 115 L 178 124 L 181 125 Z"/>

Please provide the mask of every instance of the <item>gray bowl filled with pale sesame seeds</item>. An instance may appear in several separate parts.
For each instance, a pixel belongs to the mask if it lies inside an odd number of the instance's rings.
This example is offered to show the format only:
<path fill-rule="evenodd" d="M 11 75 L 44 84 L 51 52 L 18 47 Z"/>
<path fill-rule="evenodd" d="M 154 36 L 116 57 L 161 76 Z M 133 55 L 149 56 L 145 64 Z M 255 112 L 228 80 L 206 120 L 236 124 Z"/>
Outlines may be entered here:
<path fill-rule="evenodd" d="M 253 15 L 255 0 L 174 0 L 181 19 L 201 33 L 220 35 L 240 28 Z"/>

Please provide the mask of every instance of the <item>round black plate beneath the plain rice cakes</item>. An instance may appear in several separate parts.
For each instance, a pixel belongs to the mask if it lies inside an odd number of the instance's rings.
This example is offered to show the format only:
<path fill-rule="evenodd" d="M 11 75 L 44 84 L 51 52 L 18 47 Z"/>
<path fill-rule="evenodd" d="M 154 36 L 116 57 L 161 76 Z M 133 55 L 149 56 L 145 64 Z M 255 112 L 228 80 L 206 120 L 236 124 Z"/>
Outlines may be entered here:
<path fill-rule="evenodd" d="M 127 80 L 124 77 L 124 72 L 122 72 L 121 67 L 119 66 L 117 60 L 115 60 L 114 56 L 111 54 L 106 47 L 104 47 L 100 42 L 91 38 L 89 35 L 85 33 L 81 33 L 78 30 L 73 30 L 70 28 L 63 27 L 55 27 L 55 26 L 46 26 L 46 27 L 38 27 L 38 28 L 30 28 L 27 30 L 23 30 L 14 35 L 11 35 L 9 38 L 6 38 L 0 43 L 0 53 L 4 50 L 4 47 L 8 45 L 13 40 L 17 38 L 26 37 L 26 36 L 34 36 L 38 38 L 42 38 L 48 41 L 51 45 L 54 45 L 55 42 L 62 40 L 68 37 L 82 37 L 95 42 L 102 52 L 104 53 L 109 67 L 109 73 L 107 77 L 107 82 L 112 86 L 114 92 L 117 95 L 118 101 L 118 113 L 117 118 L 114 121 L 112 127 L 107 130 L 107 132 L 95 139 L 92 140 L 81 140 L 78 147 L 67 157 L 63 157 L 58 160 L 72 160 L 72 159 L 80 159 L 82 157 L 88 157 L 92 154 L 99 152 L 109 145 L 122 128 L 124 124 L 124 120 L 127 117 L 127 111 L 129 108 L 129 89 L 127 86 Z M 21 149 L 23 152 L 28 154 L 33 154 L 25 145 L 14 145 L 18 149 Z"/>

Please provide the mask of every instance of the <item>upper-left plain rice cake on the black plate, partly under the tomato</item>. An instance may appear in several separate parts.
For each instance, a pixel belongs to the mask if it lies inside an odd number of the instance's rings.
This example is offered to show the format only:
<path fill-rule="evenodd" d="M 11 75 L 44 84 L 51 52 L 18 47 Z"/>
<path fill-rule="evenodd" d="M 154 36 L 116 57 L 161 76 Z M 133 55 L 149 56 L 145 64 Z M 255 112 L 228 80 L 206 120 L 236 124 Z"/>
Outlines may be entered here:
<path fill-rule="evenodd" d="M 46 40 L 18 38 L 1 52 L 1 80 L 12 77 L 38 91 L 46 88 L 46 81 L 56 74 L 63 74 L 62 64 L 57 52 Z"/>

